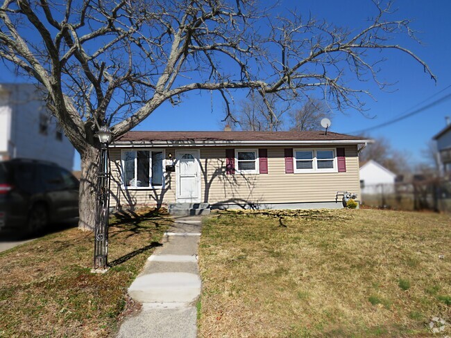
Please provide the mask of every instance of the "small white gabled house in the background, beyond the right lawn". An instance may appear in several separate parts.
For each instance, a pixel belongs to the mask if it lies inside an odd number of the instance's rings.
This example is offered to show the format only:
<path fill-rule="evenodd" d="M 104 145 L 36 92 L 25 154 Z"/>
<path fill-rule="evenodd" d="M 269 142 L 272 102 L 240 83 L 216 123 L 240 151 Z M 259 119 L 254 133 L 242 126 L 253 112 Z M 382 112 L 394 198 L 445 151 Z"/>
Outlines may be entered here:
<path fill-rule="evenodd" d="M 373 161 L 360 167 L 360 186 L 362 195 L 388 194 L 395 192 L 396 174 Z"/>

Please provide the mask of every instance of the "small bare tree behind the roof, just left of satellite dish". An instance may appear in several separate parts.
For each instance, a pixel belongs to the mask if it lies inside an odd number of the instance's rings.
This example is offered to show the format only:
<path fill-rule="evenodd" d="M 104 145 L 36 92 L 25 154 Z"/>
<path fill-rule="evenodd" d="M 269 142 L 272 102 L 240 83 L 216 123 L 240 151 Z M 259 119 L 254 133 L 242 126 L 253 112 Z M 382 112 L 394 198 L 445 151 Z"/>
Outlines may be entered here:
<path fill-rule="evenodd" d="M 330 118 L 331 112 L 327 105 L 321 100 L 309 98 L 300 109 L 296 109 L 290 114 L 290 130 L 321 130 L 321 120 Z"/>

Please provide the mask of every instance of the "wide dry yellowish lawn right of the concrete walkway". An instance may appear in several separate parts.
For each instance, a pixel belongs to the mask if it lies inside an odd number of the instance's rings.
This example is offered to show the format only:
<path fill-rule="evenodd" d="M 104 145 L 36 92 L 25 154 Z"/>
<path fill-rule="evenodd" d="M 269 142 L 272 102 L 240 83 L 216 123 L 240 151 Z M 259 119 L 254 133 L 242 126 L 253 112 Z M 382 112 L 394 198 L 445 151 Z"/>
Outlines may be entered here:
<path fill-rule="evenodd" d="M 223 211 L 203 224 L 200 337 L 427 337 L 448 318 L 450 216 Z M 401 290 L 408 292 L 401 292 Z"/>

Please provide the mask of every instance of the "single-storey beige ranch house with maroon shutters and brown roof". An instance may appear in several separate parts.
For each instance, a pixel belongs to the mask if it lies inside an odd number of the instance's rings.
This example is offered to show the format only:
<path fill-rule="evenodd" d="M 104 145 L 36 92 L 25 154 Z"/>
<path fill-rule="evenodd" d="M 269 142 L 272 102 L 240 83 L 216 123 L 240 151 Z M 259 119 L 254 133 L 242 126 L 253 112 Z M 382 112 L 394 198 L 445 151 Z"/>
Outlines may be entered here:
<path fill-rule="evenodd" d="M 341 208 L 359 199 L 357 148 L 329 132 L 128 132 L 110 146 L 111 206 Z"/>

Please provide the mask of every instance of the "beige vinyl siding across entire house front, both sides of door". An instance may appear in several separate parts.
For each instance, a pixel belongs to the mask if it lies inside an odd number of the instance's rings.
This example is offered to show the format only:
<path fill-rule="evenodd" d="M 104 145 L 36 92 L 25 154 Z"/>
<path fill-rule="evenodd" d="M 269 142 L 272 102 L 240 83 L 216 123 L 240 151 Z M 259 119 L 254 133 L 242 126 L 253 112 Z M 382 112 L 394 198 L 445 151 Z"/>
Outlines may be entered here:
<path fill-rule="evenodd" d="M 226 174 L 226 149 L 232 147 L 199 147 L 201 150 L 201 201 L 210 204 L 276 204 L 302 202 L 334 202 L 337 191 L 360 194 L 357 145 L 345 148 L 346 172 L 285 174 L 284 148 L 254 147 L 268 150 L 268 174 Z M 234 149 L 250 147 L 235 147 Z M 296 147 L 299 149 L 302 147 Z M 307 147 L 305 147 L 307 148 Z M 324 147 L 308 148 L 332 148 Z M 335 147 L 333 147 L 335 148 Z M 182 148 L 178 148 L 182 149 Z M 166 154 L 176 153 L 167 148 Z M 165 173 L 165 186 L 160 189 L 125 190 L 121 188 L 121 150 L 110 150 L 112 169 L 111 206 L 166 204 L 176 202 L 176 173 Z M 258 160 L 257 160 L 258 161 Z M 296 166 L 296 163 L 294 163 Z M 341 197 L 339 197 L 339 201 Z"/>

